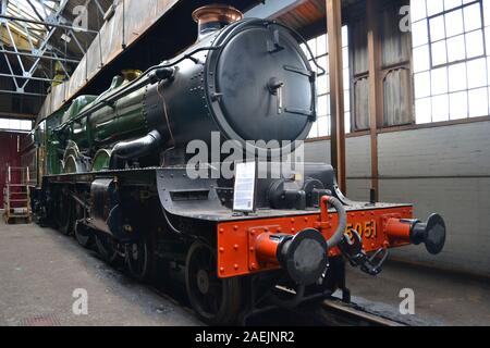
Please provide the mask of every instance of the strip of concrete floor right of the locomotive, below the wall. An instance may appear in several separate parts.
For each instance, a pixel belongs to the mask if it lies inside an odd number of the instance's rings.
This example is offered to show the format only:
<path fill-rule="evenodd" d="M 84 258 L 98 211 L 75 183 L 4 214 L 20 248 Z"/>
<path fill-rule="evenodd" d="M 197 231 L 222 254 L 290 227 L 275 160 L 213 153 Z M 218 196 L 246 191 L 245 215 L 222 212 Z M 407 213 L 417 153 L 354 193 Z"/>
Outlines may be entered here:
<path fill-rule="evenodd" d="M 350 269 L 353 301 L 414 325 L 490 325 L 490 282 L 391 262 L 376 278 Z M 402 289 L 413 289 L 415 314 L 401 315 Z"/>

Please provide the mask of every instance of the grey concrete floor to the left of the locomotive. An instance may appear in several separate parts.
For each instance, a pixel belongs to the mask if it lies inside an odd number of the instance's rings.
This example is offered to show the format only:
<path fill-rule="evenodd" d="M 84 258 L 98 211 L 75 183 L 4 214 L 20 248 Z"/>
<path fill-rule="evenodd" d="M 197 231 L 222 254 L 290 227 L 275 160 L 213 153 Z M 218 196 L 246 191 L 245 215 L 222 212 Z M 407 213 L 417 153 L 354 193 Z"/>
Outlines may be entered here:
<path fill-rule="evenodd" d="M 73 314 L 73 291 L 88 315 Z M 199 325 L 194 314 L 136 284 L 49 228 L 0 223 L 0 325 Z"/>

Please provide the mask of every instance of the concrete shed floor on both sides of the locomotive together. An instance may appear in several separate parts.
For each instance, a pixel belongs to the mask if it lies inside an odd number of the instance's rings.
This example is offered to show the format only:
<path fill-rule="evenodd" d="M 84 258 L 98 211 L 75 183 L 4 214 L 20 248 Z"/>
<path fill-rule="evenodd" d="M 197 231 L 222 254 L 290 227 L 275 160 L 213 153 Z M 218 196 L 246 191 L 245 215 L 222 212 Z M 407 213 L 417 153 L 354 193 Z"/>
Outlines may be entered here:
<path fill-rule="evenodd" d="M 350 269 L 355 302 L 415 325 L 490 325 L 490 283 L 397 263 L 376 278 Z M 75 315 L 73 291 L 88 293 Z M 400 290 L 415 291 L 401 315 Z M 192 312 L 128 279 L 95 252 L 50 228 L 0 222 L 0 325 L 200 325 Z"/>

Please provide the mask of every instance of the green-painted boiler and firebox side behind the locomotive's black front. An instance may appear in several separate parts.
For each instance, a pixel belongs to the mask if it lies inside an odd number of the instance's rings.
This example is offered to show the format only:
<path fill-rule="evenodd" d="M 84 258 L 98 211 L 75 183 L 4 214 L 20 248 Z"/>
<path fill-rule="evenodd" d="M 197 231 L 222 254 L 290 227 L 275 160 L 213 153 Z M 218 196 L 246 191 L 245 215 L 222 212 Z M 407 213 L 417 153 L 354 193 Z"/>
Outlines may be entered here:
<path fill-rule="evenodd" d="M 117 142 L 146 135 L 144 114 L 145 88 L 140 88 L 112 104 L 99 109 L 88 116 L 77 120 L 84 110 L 103 102 L 105 98 L 124 85 L 121 76 L 115 76 L 108 90 L 100 96 L 81 96 L 70 107 L 49 116 L 46 129 L 47 174 L 63 173 L 62 160 L 68 140 L 74 141 L 79 151 L 95 157 L 100 149 L 111 149 Z M 53 132 L 64 125 L 63 134 Z M 109 164 L 107 154 L 94 158 L 94 171 L 106 170 Z"/>

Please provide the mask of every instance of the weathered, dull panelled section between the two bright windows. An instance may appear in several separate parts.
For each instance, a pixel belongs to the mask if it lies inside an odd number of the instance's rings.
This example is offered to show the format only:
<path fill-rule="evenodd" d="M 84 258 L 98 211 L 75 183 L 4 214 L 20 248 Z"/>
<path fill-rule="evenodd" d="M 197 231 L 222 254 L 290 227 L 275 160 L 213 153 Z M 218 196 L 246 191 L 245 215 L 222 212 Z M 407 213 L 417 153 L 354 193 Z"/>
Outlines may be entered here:
<path fill-rule="evenodd" d="M 415 123 L 412 94 L 412 34 L 400 28 L 401 8 L 405 0 L 376 1 L 372 5 L 373 22 L 367 11 L 348 16 L 351 54 L 352 132 L 372 127 L 392 127 Z M 367 10 L 367 8 L 366 8 Z M 376 50 L 368 48 L 368 33 Z M 376 55 L 376 57 L 375 57 Z M 377 60 L 378 71 L 371 76 L 370 62 Z M 371 83 L 376 78 L 376 114 L 371 115 Z M 376 124 L 371 124 L 372 121 Z M 375 117 L 376 116 L 376 117 Z"/>

